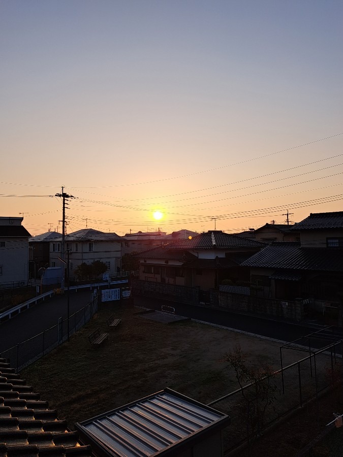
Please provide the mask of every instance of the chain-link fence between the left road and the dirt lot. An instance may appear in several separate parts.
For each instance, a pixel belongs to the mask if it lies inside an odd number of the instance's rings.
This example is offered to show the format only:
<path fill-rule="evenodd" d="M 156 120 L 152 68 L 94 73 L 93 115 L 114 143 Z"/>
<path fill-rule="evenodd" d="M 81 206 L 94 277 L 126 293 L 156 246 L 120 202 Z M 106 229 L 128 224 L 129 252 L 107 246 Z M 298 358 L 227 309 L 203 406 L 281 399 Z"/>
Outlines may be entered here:
<path fill-rule="evenodd" d="M 86 306 L 69 316 L 69 335 L 81 329 L 97 311 L 98 297 L 96 296 Z M 19 372 L 67 340 L 68 319 L 60 317 L 56 325 L 1 352 L 0 357 L 8 358 L 11 367 Z"/>

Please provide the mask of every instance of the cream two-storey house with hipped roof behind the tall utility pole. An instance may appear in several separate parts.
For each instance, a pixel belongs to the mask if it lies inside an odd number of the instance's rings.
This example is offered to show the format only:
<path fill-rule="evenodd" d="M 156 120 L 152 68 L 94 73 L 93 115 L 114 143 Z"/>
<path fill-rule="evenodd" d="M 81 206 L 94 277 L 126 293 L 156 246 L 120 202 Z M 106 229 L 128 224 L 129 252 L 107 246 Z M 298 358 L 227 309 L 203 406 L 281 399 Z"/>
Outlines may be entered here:
<path fill-rule="evenodd" d="M 107 271 L 114 275 L 121 267 L 121 243 L 122 237 L 116 233 L 105 233 L 92 228 L 83 228 L 65 237 L 65 252 L 70 253 L 70 275 L 82 263 L 91 264 L 95 260 L 101 260 L 107 265 Z M 61 255 L 62 237 L 49 242 L 50 267 L 61 265 L 58 257 Z"/>

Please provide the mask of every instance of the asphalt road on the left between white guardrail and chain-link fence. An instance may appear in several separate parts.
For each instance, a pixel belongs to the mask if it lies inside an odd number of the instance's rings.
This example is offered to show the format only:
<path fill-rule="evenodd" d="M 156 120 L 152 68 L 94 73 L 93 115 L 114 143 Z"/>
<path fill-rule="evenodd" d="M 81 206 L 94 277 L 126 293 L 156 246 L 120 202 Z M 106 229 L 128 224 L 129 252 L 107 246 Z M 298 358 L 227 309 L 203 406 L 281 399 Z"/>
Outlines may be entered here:
<path fill-rule="evenodd" d="M 70 315 L 90 302 L 90 290 L 70 293 Z M 0 324 L 0 352 L 56 325 L 67 317 L 67 296 L 54 296 Z"/>

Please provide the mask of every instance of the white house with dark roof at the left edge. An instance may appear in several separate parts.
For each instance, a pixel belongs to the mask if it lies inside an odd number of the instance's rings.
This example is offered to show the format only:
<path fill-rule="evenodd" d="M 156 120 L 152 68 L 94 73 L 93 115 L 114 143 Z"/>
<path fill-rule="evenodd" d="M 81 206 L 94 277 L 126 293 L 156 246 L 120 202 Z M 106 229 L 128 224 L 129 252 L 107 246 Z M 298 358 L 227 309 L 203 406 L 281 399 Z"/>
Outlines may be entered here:
<path fill-rule="evenodd" d="M 22 217 L 0 217 L 0 286 L 19 287 L 28 282 L 28 239 Z"/>

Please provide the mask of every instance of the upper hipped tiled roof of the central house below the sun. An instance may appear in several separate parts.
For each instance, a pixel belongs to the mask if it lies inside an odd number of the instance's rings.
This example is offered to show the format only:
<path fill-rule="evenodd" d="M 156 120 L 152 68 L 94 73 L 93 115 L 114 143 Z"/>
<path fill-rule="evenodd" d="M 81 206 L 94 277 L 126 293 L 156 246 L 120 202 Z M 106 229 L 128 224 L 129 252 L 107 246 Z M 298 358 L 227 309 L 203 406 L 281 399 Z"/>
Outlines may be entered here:
<path fill-rule="evenodd" d="M 261 248 L 265 246 L 259 241 L 250 240 L 231 235 L 222 231 L 209 231 L 201 233 L 191 240 L 179 240 L 172 244 L 174 249 L 235 249 L 235 248 Z"/>

